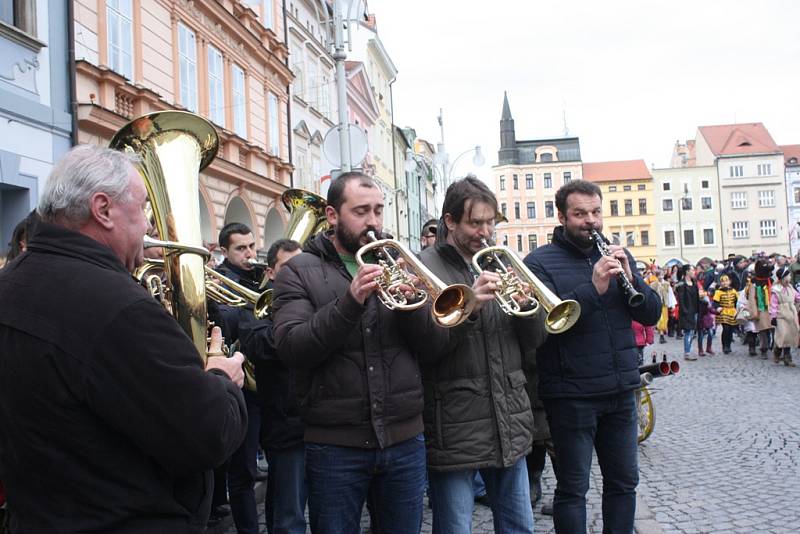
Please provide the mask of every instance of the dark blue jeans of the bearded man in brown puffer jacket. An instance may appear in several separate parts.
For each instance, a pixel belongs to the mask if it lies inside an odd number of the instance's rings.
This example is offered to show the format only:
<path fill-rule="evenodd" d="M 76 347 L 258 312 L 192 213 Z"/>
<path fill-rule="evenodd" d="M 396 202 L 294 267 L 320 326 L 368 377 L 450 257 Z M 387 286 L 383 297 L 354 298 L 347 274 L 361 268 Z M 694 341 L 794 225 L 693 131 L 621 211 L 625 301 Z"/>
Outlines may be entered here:
<path fill-rule="evenodd" d="M 306 443 L 306 479 L 314 534 L 360 534 L 367 498 L 376 534 L 419 534 L 425 437 L 386 449 Z"/>

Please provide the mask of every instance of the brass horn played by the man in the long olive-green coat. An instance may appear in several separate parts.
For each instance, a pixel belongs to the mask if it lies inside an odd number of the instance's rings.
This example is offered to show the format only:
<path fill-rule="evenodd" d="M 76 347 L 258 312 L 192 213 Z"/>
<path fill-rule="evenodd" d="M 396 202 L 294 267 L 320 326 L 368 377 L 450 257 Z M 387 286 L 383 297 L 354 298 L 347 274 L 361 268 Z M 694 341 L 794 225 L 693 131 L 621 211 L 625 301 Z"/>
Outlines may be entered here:
<path fill-rule="evenodd" d="M 491 268 L 500 276 L 495 300 L 504 312 L 515 317 L 527 317 L 541 306 L 547 312 L 544 327 L 549 333 L 560 334 L 572 328 L 581 316 L 581 306 L 577 301 L 559 299 L 508 247 L 490 246 L 485 239 L 483 245 L 472 257 L 472 266 L 478 273 Z M 501 257 L 507 258 L 506 262 Z M 532 294 L 523 284 L 528 285 Z"/>

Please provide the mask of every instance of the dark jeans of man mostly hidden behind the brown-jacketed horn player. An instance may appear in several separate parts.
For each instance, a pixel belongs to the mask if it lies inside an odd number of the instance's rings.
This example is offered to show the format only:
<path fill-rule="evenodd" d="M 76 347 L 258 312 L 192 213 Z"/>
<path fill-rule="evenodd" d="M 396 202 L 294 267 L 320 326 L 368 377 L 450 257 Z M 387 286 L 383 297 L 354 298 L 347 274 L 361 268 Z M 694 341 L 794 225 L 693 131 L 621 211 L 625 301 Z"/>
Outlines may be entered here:
<path fill-rule="evenodd" d="M 269 478 L 264 516 L 269 534 L 305 534 L 306 449 L 302 443 L 290 449 L 267 451 Z"/>

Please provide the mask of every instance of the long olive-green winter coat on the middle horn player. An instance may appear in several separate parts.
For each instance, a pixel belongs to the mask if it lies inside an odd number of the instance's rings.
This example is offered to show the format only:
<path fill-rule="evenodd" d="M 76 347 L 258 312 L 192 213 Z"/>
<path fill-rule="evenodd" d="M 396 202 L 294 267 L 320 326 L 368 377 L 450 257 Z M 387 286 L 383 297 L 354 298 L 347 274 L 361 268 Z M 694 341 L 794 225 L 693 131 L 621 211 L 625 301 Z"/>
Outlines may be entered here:
<path fill-rule="evenodd" d="M 451 245 L 437 243 L 420 258 L 446 284 L 473 284 Z M 447 351 L 422 367 L 428 468 L 509 467 L 531 450 L 533 414 L 522 366 L 545 336 L 542 315 L 509 317 L 492 301 L 450 330 Z"/>

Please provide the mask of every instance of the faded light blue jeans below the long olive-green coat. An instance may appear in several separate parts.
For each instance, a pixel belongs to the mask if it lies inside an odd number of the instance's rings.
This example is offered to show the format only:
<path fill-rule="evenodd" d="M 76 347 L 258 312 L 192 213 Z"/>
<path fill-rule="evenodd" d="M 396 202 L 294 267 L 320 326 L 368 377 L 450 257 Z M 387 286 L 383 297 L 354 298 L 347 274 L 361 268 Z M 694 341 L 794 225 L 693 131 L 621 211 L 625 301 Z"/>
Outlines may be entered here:
<path fill-rule="evenodd" d="M 431 471 L 434 534 L 469 534 L 475 507 L 473 469 Z M 533 532 L 533 509 L 525 458 L 506 468 L 480 470 L 492 507 L 494 531 Z"/>

